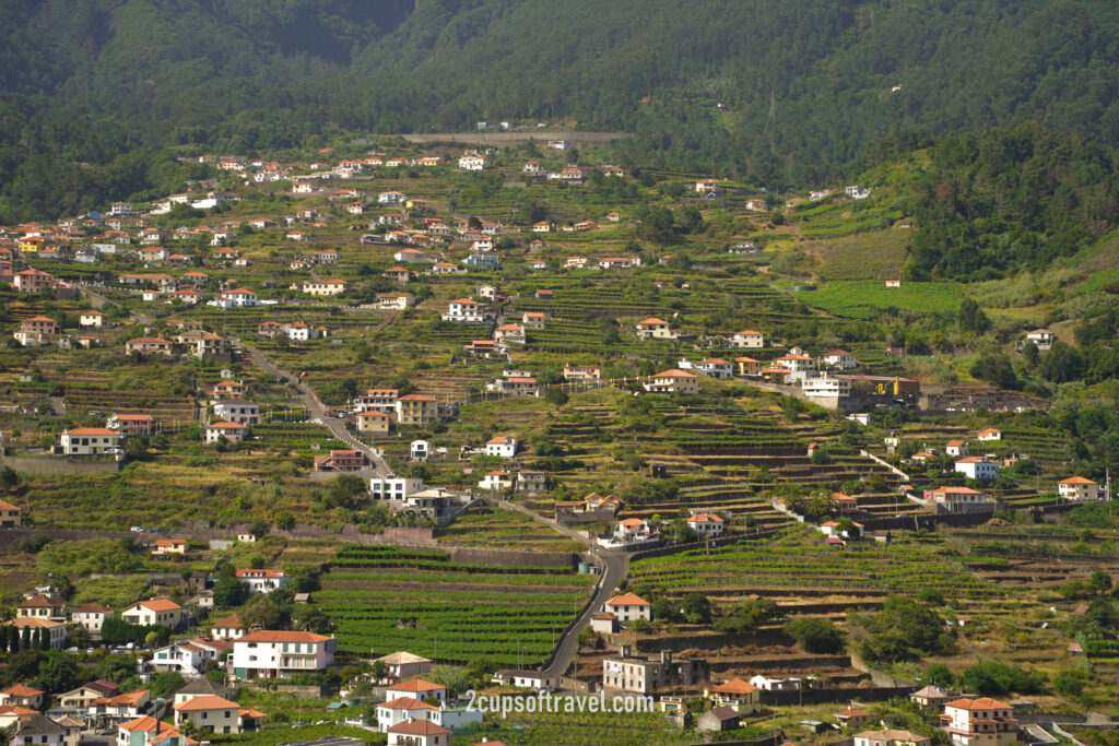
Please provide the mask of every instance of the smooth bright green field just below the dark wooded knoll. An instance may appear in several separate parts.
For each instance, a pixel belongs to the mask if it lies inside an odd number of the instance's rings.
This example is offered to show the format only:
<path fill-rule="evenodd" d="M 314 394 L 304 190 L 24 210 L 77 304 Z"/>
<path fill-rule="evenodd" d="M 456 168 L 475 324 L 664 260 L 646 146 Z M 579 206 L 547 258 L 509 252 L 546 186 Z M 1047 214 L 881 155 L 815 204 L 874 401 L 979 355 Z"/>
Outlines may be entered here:
<path fill-rule="evenodd" d="M 886 287 L 874 281 L 831 282 L 821 290 L 797 293 L 808 305 L 837 317 L 872 319 L 883 311 L 906 309 L 916 313 L 948 314 L 959 311 L 962 294 L 957 285 L 906 282 Z"/>

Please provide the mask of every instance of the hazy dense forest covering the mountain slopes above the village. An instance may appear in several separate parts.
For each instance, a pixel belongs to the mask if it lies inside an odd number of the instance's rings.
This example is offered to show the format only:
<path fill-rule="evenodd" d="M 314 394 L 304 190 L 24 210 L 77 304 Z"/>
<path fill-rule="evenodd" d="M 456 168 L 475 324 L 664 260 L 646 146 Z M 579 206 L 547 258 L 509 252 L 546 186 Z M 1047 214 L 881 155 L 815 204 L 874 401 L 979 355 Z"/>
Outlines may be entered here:
<path fill-rule="evenodd" d="M 0 29 L 4 221 L 178 178 L 169 147 L 478 120 L 629 130 L 630 164 L 772 186 L 904 131 L 1119 144 L 1111 0 L 10 0 Z"/>

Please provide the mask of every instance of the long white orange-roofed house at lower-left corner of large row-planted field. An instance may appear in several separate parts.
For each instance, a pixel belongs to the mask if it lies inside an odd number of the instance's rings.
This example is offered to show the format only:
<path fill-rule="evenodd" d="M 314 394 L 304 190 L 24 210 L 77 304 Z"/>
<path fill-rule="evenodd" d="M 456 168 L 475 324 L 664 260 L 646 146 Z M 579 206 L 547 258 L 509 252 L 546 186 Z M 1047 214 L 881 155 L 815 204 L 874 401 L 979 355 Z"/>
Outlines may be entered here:
<path fill-rule="evenodd" d="M 337 641 L 323 634 L 257 630 L 233 641 L 233 672 L 238 679 L 282 679 L 323 671 L 336 649 Z"/>

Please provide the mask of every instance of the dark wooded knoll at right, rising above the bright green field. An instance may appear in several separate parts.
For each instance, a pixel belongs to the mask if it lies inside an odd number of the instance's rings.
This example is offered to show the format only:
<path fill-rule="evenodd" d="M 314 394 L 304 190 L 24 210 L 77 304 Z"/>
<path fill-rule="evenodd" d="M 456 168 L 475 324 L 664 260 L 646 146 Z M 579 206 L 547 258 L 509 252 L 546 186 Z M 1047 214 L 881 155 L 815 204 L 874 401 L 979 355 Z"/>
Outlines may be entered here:
<path fill-rule="evenodd" d="M 914 280 L 991 280 L 1041 270 L 1119 217 L 1117 153 L 1033 124 L 955 133 L 929 149 L 912 189 Z"/>

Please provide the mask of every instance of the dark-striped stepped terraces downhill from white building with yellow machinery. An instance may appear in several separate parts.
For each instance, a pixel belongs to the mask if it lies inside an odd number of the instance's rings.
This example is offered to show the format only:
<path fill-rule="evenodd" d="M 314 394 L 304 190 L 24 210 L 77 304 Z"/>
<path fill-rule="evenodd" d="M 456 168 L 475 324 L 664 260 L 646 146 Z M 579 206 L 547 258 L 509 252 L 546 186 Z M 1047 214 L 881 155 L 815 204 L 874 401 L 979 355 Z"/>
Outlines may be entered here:
<path fill-rule="evenodd" d="M 859 455 L 857 448 L 841 445 L 834 424 L 783 423 L 764 398 L 680 407 L 667 398 L 647 396 L 641 402 L 651 405 L 648 410 L 633 409 L 638 405 L 611 390 L 577 400 L 547 426 L 546 438 L 583 463 L 562 472 L 563 484 L 576 491 L 613 489 L 600 484 L 598 472 L 617 469 L 614 452 L 627 447 L 648 464 L 665 468 L 675 481 L 675 498 L 642 498 L 626 506 L 626 517 L 648 519 L 707 508 L 731 511 L 736 528 L 774 528 L 791 521 L 762 494 L 775 484 L 833 491 L 872 478 L 881 478 L 887 490 L 859 494 L 861 508 L 888 516 L 915 509 L 899 501 L 894 489 L 899 478 Z M 809 443 L 827 450 L 827 463 L 812 463 Z"/>

